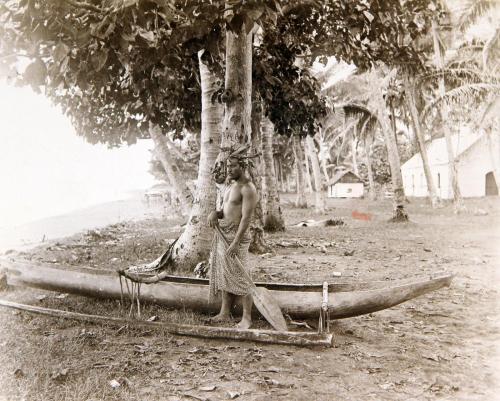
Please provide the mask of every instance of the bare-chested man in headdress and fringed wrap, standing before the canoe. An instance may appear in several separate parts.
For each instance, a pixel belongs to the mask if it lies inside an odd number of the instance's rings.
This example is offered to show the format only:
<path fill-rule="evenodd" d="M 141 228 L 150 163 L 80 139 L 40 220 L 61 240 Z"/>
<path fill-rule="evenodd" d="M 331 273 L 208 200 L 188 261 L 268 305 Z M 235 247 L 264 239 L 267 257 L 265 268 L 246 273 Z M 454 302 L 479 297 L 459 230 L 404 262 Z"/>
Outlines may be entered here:
<path fill-rule="evenodd" d="M 257 205 L 257 191 L 246 172 L 247 158 L 230 155 L 227 162 L 227 177 L 230 185 L 223 195 L 222 211 L 211 212 L 208 224 L 215 228 L 219 224 L 229 242 L 226 248 L 216 234 L 210 254 L 210 296 L 222 292 L 222 306 L 212 321 L 230 319 L 231 306 L 235 296 L 242 298 L 243 317 L 239 328 L 248 329 L 252 324 L 251 282 L 241 273 L 241 267 L 234 257 L 238 257 L 244 268 L 247 266 L 250 235 L 248 227 Z M 220 220 L 220 221 L 219 221 Z"/>

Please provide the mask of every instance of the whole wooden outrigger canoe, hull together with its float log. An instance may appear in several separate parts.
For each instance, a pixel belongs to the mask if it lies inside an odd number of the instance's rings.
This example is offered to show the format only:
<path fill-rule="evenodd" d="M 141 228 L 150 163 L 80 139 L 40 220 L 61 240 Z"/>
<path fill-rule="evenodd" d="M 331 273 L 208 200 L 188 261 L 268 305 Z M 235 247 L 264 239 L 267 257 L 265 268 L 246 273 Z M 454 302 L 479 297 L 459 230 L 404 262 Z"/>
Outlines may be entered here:
<path fill-rule="evenodd" d="M 85 267 L 62 267 L 8 259 L 0 260 L 0 271 L 5 272 L 9 285 L 27 286 L 100 299 L 122 299 L 123 297 L 123 287 L 115 271 Z M 141 276 L 144 275 L 141 274 Z M 320 284 L 257 282 L 255 283 L 257 287 L 267 288 L 285 315 L 297 319 L 319 318 L 319 332 L 242 330 L 189 325 L 170 325 L 170 332 L 181 335 L 292 343 L 296 345 L 328 345 L 332 341 L 332 335 L 328 330 L 330 320 L 344 319 L 390 308 L 431 291 L 448 287 L 452 279 L 453 275 L 441 273 L 418 277 L 411 281 L 392 282 L 390 286 L 388 286 L 387 281 Z M 220 303 L 216 301 L 209 302 L 208 293 L 207 279 L 180 276 L 163 276 L 154 285 L 143 284 L 140 287 L 140 299 L 143 302 L 160 304 L 169 308 L 216 313 L 220 308 Z M 5 302 L 2 301 L 0 306 L 8 305 L 5 305 Z M 236 305 L 236 308 L 240 309 L 240 305 Z M 42 313 L 34 309 L 30 311 Z M 95 315 L 89 316 L 95 317 Z M 109 319 L 107 317 L 97 317 L 93 321 L 102 320 L 101 318 Z M 92 321 L 88 316 L 80 320 Z M 139 324 L 142 323 L 144 322 Z M 158 325 L 160 324 L 158 323 Z M 169 324 L 162 323 L 161 325 L 166 331 L 169 331 L 169 327 L 167 327 Z M 195 327 L 195 330 L 190 330 L 189 327 Z M 217 330 L 218 335 L 214 334 Z M 261 332 L 264 334 L 259 336 Z M 291 338 L 295 338 L 297 341 L 293 341 Z"/>

